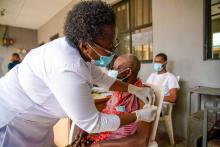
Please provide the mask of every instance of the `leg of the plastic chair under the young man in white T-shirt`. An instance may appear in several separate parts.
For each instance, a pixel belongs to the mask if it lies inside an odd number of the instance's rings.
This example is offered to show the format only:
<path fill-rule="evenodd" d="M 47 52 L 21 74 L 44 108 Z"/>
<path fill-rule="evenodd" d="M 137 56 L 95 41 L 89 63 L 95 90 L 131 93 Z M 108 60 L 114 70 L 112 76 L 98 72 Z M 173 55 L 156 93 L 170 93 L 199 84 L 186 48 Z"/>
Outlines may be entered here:
<path fill-rule="evenodd" d="M 170 115 L 164 117 L 164 123 L 165 123 L 165 127 L 167 130 L 169 139 L 170 139 L 170 143 L 174 145 L 175 142 L 174 142 L 174 135 L 173 135 L 173 123 L 172 123 L 172 119 Z"/>

